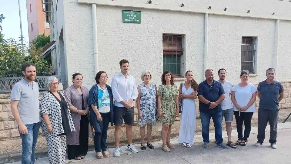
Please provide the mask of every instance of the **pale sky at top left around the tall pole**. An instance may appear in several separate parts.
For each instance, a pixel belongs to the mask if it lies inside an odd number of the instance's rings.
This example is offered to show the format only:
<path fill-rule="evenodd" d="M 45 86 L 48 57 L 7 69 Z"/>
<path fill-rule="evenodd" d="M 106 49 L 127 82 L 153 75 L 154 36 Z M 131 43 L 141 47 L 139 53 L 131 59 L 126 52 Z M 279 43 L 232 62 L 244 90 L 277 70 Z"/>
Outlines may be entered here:
<path fill-rule="evenodd" d="M 26 0 L 20 0 L 21 21 L 22 21 L 22 33 L 26 42 L 28 41 L 28 25 L 26 14 Z M 4 39 L 13 38 L 20 40 L 20 22 L 19 22 L 19 10 L 18 0 L 0 0 L 0 14 L 5 16 L 2 21 L 2 34 Z"/>

